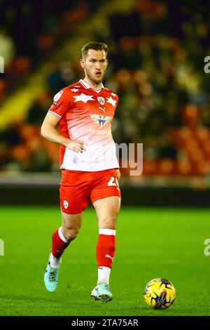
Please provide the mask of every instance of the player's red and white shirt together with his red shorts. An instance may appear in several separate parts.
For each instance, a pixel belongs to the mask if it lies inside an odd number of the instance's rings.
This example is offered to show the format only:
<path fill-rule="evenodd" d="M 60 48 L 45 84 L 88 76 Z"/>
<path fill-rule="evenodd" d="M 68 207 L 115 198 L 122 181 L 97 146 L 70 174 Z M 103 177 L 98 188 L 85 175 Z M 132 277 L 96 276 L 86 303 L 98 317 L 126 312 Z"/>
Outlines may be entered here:
<path fill-rule="evenodd" d="M 80 79 L 63 88 L 54 97 L 50 114 L 59 118 L 62 136 L 83 140 L 85 152 L 78 153 L 61 146 L 59 152 L 62 181 L 60 202 L 65 213 L 80 213 L 88 198 L 119 196 L 119 168 L 116 145 L 111 134 L 118 95 L 108 88 L 92 88 Z"/>

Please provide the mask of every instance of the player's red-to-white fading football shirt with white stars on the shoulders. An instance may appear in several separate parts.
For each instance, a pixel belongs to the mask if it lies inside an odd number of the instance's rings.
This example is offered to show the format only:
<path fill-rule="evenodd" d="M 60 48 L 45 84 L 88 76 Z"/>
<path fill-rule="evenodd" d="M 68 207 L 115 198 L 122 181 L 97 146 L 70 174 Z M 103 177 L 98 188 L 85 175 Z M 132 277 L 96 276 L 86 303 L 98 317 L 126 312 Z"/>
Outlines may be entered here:
<path fill-rule="evenodd" d="M 83 153 L 60 147 L 61 169 L 102 171 L 119 167 L 111 134 L 117 105 L 118 95 L 113 91 L 103 85 L 92 88 L 82 79 L 55 95 L 49 112 L 60 119 L 60 133 L 87 143 Z"/>

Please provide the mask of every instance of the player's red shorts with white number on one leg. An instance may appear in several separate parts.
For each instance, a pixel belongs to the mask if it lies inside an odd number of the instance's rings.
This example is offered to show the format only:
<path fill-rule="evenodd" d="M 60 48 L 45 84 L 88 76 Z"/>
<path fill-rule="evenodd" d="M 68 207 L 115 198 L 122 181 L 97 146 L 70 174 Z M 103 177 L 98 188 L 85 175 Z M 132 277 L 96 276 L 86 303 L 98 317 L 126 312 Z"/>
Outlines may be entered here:
<path fill-rule="evenodd" d="M 121 197 L 115 169 L 96 172 L 62 170 L 59 187 L 60 207 L 64 213 L 76 214 L 105 197 Z"/>

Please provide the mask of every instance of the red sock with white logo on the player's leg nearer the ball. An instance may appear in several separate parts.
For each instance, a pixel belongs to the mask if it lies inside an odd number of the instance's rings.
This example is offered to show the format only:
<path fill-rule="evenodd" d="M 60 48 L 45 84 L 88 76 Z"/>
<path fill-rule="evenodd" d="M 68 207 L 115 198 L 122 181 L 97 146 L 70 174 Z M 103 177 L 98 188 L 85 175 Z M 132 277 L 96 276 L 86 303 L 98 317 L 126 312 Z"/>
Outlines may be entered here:
<path fill-rule="evenodd" d="M 112 268 L 116 251 L 115 235 L 99 235 L 97 241 L 97 265 Z"/>

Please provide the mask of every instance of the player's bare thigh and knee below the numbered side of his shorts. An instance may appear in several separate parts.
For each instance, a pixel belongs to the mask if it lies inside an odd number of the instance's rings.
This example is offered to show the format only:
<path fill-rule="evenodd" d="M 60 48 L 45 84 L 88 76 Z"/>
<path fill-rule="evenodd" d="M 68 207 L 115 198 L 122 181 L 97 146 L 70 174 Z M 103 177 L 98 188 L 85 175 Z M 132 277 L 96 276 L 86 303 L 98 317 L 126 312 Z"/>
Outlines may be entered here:
<path fill-rule="evenodd" d="M 93 203 L 97 213 L 100 229 L 116 229 L 117 216 L 120 211 L 121 199 L 118 196 L 98 199 Z"/>

